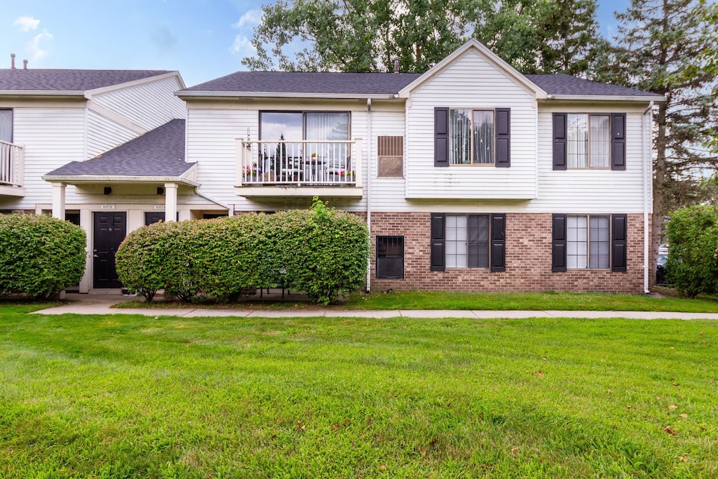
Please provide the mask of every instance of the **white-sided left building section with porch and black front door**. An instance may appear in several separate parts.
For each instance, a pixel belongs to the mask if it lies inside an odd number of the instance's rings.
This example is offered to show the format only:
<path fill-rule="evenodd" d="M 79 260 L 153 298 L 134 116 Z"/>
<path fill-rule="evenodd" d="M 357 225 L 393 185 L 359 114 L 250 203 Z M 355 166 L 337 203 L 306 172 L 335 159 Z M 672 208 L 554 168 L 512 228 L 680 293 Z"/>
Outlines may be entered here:
<path fill-rule="evenodd" d="M 0 213 L 52 213 L 82 225 L 88 274 L 80 291 L 119 287 L 114 251 L 126 231 L 144 224 L 144 211 L 164 211 L 156 185 L 193 187 L 185 104 L 174 96 L 184 87 L 172 71 L 0 70 Z M 172 150 L 180 167 L 165 171 L 146 151 L 118 158 L 158 129 L 180 141 Z M 108 159 L 112 169 L 103 169 Z"/>

